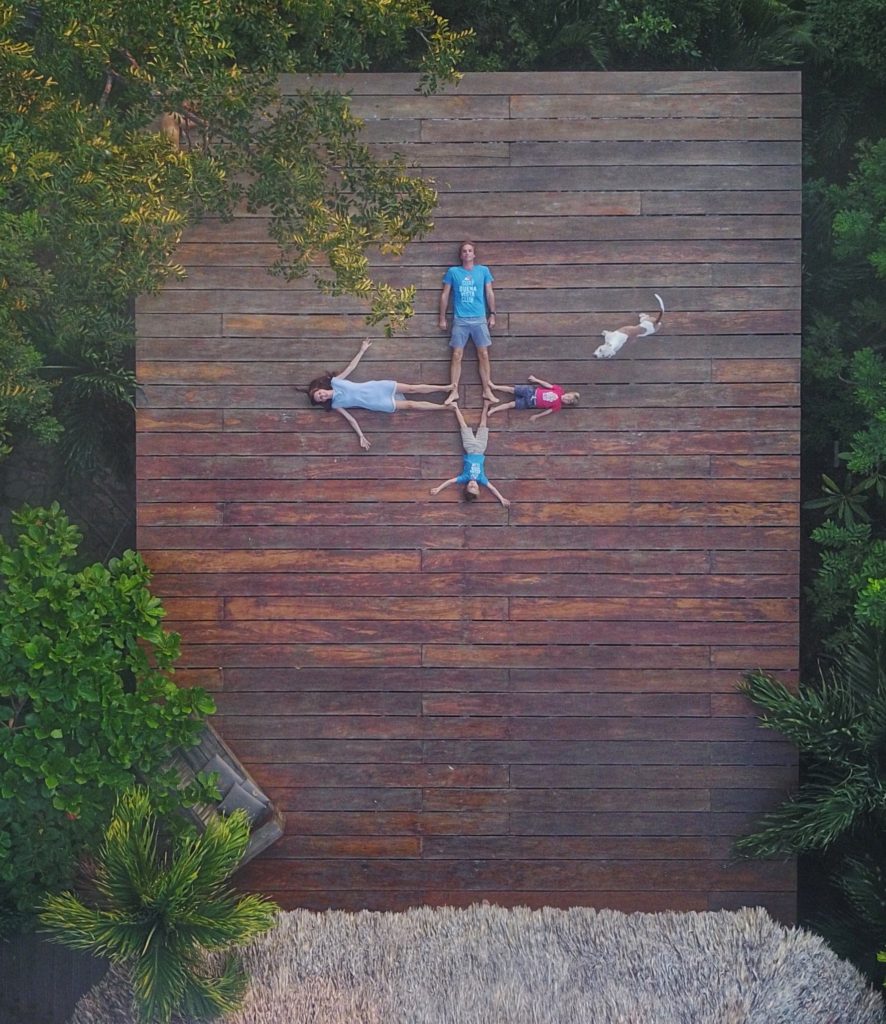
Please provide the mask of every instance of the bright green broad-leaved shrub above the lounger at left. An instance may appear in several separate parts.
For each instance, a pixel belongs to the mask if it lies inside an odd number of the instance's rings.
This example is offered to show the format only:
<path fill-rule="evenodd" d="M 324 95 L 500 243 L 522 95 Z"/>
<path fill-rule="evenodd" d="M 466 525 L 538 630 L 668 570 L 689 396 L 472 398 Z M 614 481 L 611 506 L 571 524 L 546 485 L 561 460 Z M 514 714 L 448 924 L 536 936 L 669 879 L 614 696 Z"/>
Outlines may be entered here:
<path fill-rule="evenodd" d="M 0 914 L 33 911 L 69 884 L 77 858 L 139 777 L 169 810 L 160 766 L 197 741 L 215 709 L 169 673 L 178 637 L 161 625 L 151 573 L 131 551 L 75 569 L 80 535 L 57 506 L 13 516 L 0 541 Z"/>

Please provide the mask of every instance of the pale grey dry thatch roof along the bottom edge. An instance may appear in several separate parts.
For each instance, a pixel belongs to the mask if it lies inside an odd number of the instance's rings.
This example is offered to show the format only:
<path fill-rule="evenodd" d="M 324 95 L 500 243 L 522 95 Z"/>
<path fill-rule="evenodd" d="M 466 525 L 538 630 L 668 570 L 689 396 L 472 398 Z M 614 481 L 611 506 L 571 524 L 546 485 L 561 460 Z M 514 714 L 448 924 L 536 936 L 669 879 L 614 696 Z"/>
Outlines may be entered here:
<path fill-rule="evenodd" d="M 228 1024 L 879 1024 L 881 996 L 764 910 L 281 915 Z M 110 976 L 72 1024 L 132 1024 Z"/>

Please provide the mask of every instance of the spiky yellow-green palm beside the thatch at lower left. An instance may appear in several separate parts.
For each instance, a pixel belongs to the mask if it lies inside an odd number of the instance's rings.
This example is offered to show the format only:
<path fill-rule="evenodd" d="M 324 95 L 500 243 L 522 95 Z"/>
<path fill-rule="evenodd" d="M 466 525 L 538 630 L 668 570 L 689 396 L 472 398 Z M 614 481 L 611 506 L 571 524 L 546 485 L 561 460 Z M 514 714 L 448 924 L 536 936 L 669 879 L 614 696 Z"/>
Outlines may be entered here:
<path fill-rule="evenodd" d="M 226 885 L 249 842 L 245 811 L 215 817 L 200 835 L 166 840 L 147 791 L 122 794 L 89 869 L 92 898 L 49 896 L 40 920 L 58 942 L 124 966 L 143 1024 L 173 1013 L 199 1019 L 239 1006 L 247 977 L 226 953 L 273 924 L 276 904 Z"/>

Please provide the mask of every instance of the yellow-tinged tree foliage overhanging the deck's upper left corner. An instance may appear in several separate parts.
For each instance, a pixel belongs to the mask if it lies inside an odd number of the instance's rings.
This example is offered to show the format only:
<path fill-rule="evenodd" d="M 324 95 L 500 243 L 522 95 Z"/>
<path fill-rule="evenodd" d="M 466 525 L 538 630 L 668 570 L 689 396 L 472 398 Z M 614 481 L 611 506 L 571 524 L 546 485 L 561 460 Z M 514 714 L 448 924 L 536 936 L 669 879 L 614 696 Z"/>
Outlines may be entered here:
<path fill-rule="evenodd" d="M 412 48 L 432 88 L 462 38 L 425 0 L 0 0 L 0 455 L 64 427 L 88 467 L 102 417 L 119 451 L 131 300 L 180 272 L 204 214 L 267 213 L 279 273 L 319 267 L 402 323 L 412 292 L 374 281 L 367 251 L 427 230 L 433 189 L 373 160 L 341 97 L 282 98 L 278 76 Z"/>

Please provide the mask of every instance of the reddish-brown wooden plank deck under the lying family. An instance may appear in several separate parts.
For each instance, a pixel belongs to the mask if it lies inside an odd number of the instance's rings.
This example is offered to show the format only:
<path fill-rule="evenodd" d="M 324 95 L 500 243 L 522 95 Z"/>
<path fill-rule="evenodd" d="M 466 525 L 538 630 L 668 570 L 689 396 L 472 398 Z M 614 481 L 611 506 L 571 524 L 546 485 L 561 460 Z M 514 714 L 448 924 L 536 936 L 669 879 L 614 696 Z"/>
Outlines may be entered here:
<path fill-rule="evenodd" d="M 268 276 L 261 217 L 189 233 L 187 281 L 139 307 L 138 539 L 182 678 L 287 815 L 244 884 L 790 920 L 793 865 L 730 845 L 796 772 L 735 682 L 797 667 L 799 75 L 343 82 L 440 191 L 386 264 L 418 313 L 354 376 L 447 379 L 436 299 L 471 238 L 495 379 L 582 404 L 493 420 L 509 510 L 431 499 L 461 464 L 448 416 L 358 414 L 364 454 L 295 390 L 355 351 L 360 305 Z M 664 332 L 595 360 L 653 291 Z M 472 350 L 463 382 L 475 419 Z"/>

